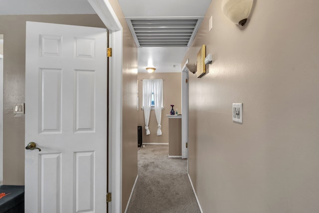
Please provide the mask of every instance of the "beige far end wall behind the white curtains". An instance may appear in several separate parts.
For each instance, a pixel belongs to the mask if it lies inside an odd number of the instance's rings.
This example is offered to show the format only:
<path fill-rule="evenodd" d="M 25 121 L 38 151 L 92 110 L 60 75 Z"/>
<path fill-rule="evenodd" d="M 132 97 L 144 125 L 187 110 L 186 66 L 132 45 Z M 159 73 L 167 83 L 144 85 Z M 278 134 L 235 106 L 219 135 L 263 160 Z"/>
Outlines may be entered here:
<path fill-rule="evenodd" d="M 141 109 L 143 105 L 143 79 L 163 79 L 163 107 L 161 111 L 161 136 L 157 136 L 158 123 L 155 116 L 155 110 L 151 110 L 149 128 L 150 135 L 146 135 L 144 110 Z M 167 72 L 139 72 L 139 112 L 138 112 L 138 126 L 142 126 L 142 141 L 143 143 L 168 143 L 168 118 L 171 107 L 174 104 L 174 110 L 177 108 L 181 113 L 181 73 L 167 73 Z"/>

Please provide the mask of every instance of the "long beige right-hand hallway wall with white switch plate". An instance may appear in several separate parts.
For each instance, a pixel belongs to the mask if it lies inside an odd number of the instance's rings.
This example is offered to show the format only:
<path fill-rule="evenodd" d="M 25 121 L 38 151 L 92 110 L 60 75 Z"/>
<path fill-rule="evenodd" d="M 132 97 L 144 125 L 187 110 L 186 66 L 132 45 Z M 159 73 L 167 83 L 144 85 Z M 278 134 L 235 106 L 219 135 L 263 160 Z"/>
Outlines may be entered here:
<path fill-rule="evenodd" d="M 189 79 L 189 173 L 203 212 L 319 212 L 319 1 L 255 0 L 244 27 L 220 7 L 212 1 L 184 58 L 202 44 L 214 55 Z"/>

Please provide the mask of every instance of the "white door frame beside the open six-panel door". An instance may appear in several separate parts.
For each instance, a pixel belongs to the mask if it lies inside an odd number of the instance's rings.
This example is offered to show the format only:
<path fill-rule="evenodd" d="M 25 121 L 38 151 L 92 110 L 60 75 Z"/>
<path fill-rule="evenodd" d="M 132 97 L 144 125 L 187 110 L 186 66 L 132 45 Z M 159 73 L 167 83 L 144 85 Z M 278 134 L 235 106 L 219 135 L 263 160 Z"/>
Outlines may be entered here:
<path fill-rule="evenodd" d="M 123 28 L 109 0 L 88 0 L 109 30 L 109 213 L 122 212 L 122 51 Z"/>

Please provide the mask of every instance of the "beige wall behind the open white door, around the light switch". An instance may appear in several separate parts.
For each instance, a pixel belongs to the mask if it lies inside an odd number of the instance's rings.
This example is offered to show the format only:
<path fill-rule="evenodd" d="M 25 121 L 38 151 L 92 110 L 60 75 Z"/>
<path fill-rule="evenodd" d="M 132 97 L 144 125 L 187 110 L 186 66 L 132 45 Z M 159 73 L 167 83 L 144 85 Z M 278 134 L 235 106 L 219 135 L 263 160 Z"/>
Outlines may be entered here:
<path fill-rule="evenodd" d="M 97 15 L 0 15 L 3 34 L 3 184 L 24 185 L 24 116 L 13 117 L 13 103 L 24 102 L 25 21 L 104 27 Z M 27 109 L 26 109 L 27 110 Z"/>

